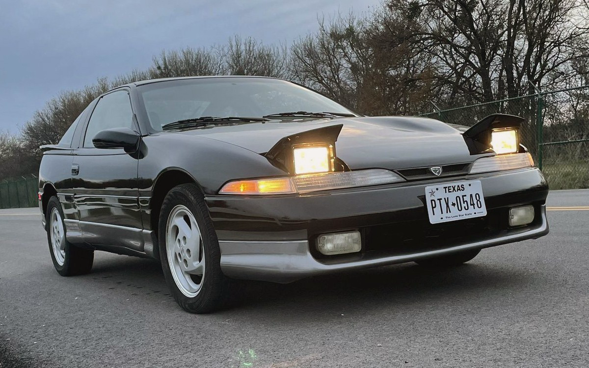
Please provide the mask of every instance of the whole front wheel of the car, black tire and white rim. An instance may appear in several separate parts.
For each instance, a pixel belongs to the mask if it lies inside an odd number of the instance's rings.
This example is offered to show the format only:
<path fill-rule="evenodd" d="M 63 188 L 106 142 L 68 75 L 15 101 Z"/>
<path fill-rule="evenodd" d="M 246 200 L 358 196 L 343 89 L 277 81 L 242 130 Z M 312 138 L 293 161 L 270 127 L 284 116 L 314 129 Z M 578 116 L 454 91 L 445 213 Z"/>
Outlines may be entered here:
<path fill-rule="evenodd" d="M 166 283 L 180 307 L 191 313 L 216 309 L 229 280 L 221 271 L 217 234 L 195 184 L 178 185 L 164 198 L 158 240 Z"/>

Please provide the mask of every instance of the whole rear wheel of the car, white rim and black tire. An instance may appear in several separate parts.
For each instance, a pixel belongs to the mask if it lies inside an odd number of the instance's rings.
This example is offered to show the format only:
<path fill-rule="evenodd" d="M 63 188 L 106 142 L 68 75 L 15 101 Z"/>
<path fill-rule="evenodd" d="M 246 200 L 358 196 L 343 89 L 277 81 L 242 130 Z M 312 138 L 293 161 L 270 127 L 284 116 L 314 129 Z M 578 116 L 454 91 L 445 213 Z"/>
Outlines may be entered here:
<path fill-rule="evenodd" d="M 94 251 L 71 244 L 65 237 L 64 211 L 57 197 L 47 203 L 47 241 L 55 270 L 61 276 L 74 276 L 90 272 L 94 263 Z"/>

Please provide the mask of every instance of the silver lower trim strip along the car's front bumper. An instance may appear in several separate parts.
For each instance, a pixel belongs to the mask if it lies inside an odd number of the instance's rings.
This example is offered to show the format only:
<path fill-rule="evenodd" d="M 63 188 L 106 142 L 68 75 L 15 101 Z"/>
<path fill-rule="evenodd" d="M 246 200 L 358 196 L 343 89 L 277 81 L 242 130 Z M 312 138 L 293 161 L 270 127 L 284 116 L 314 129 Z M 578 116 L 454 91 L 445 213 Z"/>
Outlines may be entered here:
<path fill-rule="evenodd" d="M 514 243 L 548 234 L 546 208 L 542 205 L 541 222 L 535 227 L 522 227 L 508 230 L 503 236 L 484 238 L 472 243 L 458 244 L 454 247 L 372 258 L 363 258 L 340 263 L 322 263 L 310 254 L 307 240 L 295 241 L 219 241 L 221 248 L 221 270 L 234 279 L 272 281 L 289 283 L 309 276 L 335 271 L 355 270 L 385 266 L 388 264 L 413 261 L 418 258 L 441 256 L 456 251 L 488 248 L 501 244 Z"/>

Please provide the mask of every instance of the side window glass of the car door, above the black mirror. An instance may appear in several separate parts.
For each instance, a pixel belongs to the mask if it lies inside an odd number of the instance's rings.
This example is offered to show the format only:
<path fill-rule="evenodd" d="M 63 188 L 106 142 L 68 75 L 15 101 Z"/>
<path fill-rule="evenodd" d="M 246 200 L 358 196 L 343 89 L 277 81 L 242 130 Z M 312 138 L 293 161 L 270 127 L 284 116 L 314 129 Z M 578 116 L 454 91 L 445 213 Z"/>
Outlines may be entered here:
<path fill-rule="evenodd" d="M 127 91 L 112 92 L 102 97 L 96 107 L 84 136 L 84 147 L 94 147 L 92 138 L 105 129 L 133 128 L 133 110 Z"/>

